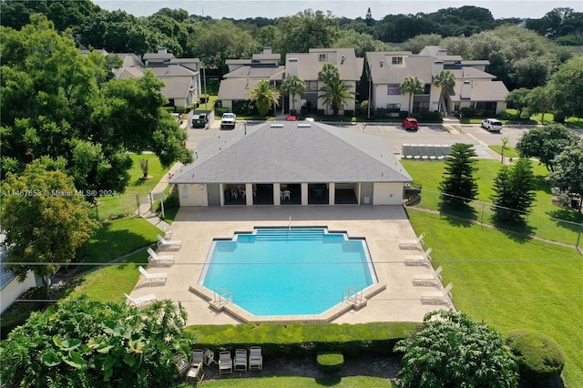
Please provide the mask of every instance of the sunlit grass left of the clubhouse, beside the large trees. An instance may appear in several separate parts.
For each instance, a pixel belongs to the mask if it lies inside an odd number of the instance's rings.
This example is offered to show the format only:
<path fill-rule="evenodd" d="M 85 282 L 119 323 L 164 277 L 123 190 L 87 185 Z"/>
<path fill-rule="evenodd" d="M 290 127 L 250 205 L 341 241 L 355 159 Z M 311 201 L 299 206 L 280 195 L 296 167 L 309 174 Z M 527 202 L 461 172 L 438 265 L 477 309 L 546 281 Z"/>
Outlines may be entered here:
<path fill-rule="evenodd" d="M 140 200 L 147 201 L 148 193 L 154 189 L 159 180 L 168 172 L 168 168 L 162 168 L 159 158 L 153 154 L 130 155 L 133 161 L 132 168 L 129 170 L 129 185 L 126 192 L 114 197 L 101 197 L 97 200 L 100 205 L 91 210 L 92 215 L 99 220 L 107 219 L 111 216 L 134 214 L 138 209 L 136 196 Z M 144 174 L 139 168 L 139 159 L 147 159 L 149 165 L 148 175 L 153 178 L 148 180 L 139 179 Z"/>

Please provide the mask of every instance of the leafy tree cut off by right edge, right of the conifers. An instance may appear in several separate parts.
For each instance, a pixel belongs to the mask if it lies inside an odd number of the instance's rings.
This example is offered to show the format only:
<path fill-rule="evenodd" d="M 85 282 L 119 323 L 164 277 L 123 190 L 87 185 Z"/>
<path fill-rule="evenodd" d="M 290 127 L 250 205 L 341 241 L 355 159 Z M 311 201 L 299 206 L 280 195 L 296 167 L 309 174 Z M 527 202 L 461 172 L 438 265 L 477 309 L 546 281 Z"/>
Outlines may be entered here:
<path fill-rule="evenodd" d="M 555 168 L 548 174 L 553 187 L 583 199 L 583 141 L 565 148 L 554 160 Z M 583 200 L 579 201 L 579 211 Z"/>

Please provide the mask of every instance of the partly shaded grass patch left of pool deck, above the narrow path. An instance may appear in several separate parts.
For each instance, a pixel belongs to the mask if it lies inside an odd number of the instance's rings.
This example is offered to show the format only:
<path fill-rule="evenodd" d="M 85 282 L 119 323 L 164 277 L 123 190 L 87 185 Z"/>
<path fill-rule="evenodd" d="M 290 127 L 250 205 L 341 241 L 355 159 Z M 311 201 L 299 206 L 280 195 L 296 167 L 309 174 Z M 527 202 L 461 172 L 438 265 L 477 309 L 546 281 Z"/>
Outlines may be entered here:
<path fill-rule="evenodd" d="M 147 220 L 130 217 L 104 222 L 79 251 L 89 263 L 103 263 L 157 241 L 160 230 Z"/>

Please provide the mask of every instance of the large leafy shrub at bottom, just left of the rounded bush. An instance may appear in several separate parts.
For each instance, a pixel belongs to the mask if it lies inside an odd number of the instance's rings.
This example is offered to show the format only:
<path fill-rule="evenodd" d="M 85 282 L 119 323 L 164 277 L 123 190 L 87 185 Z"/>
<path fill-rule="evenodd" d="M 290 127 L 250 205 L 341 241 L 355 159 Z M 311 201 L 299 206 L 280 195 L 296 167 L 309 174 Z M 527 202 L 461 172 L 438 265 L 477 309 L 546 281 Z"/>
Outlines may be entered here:
<path fill-rule="evenodd" d="M 404 388 L 512 388 L 518 366 L 499 332 L 463 312 L 433 311 L 424 325 L 394 347 L 403 352 L 397 373 Z"/>

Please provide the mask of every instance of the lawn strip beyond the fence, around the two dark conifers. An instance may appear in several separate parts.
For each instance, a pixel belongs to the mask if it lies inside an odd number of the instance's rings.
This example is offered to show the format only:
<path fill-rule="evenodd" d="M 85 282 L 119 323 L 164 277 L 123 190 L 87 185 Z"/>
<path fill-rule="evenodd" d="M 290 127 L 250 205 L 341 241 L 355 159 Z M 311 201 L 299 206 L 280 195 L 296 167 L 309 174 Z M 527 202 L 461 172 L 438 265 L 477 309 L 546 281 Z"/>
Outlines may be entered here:
<path fill-rule="evenodd" d="M 421 202 L 416 206 L 425 209 L 440 209 L 438 187 L 443 179 L 445 162 L 418 160 L 402 160 L 401 162 L 414 181 L 423 185 Z M 494 212 L 491 209 L 492 199 L 490 197 L 495 193 L 493 183 L 502 164 L 496 160 L 477 159 L 475 166 L 477 168 L 475 177 L 478 184 L 478 202 L 472 204 L 473 213 L 466 212 L 460 215 L 494 224 L 495 221 L 492 218 Z M 536 200 L 531 214 L 526 217 L 526 224 L 500 225 L 500 227 L 570 245 L 577 244 L 579 233 L 583 231 L 581 226 L 583 215 L 576 210 L 560 208 L 553 204 L 550 186 L 545 180 L 548 175 L 547 168 L 538 165 L 537 162 L 533 162 L 532 167 L 536 179 Z M 579 241 L 579 246 L 582 245 L 583 241 Z"/>

